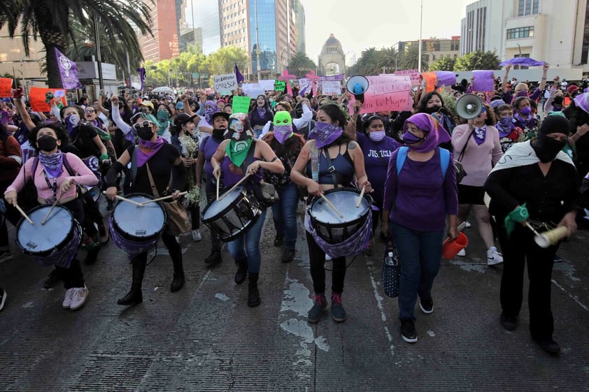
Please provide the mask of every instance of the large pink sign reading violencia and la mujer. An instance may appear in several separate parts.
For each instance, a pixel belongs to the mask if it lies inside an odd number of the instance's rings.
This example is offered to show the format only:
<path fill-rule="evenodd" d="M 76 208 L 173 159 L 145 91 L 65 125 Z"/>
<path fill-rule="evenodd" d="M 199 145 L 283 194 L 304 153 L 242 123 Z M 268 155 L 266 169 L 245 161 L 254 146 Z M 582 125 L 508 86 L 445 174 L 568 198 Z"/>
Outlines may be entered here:
<path fill-rule="evenodd" d="M 411 78 L 408 75 L 392 74 L 367 76 L 368 89 L 360 113 L 402 112 L 411 110 Z M 350 113 L 353 112 L 353 96 L 350 98 Z"/>

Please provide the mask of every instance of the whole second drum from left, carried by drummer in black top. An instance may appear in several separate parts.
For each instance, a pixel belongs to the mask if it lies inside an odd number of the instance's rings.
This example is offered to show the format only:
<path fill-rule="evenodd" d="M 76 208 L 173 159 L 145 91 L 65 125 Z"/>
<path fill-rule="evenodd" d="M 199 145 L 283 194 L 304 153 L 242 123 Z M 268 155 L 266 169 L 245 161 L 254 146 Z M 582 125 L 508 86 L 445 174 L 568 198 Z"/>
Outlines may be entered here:
<path fill-rule="evenodd" d="M 137 203 L 153 200 L 146 194 L 130 194 L 125 198 Z M 127 252 L 129 258 L 155 247 L 165 227 L 166 209 L 157 201 L 141 207 L 119 201 L 108 224 L 114 244 Z"/>

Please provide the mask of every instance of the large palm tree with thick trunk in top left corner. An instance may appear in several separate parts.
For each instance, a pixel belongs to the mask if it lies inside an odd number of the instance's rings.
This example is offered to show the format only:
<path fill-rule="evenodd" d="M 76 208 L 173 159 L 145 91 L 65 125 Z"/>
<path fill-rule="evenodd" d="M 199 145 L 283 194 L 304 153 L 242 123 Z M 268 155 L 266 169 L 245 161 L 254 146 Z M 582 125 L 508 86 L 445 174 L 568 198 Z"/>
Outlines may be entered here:
<path fill-rule="evenodd" d="M 25 55 L 29 55 L 29 37 L 41 37 L 49 87 L 62 87 L 54 48 L 66 52 L 72 18 L 83 27 L 89 26 L 90 20 L 97 20 L 108 26 L 111 36 L 122 43 L 137 42 L 132 24 L 141 34 L 151 34 L 150 8 L 142 0 L 3 0 L 2 3 L 0 29 L 6 24 L 11 38 L 22 36 Z"/>

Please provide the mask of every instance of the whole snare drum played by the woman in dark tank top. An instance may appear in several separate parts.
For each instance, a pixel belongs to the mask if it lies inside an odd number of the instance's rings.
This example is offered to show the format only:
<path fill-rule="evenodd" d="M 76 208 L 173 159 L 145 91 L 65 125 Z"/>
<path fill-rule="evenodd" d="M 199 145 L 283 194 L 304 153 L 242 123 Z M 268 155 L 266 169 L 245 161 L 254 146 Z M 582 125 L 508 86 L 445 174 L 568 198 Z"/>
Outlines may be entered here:
<path fill-rule="evenodd" d="M 364 226 L 371 213 L 370 201 L 364 196 L 360 206 L 356 207 L 360 192 L 353 188 L 329 189 L 325 191 L 325 197 L 341 212 L 343 218 L 323 198 L 314 198 L 308 208 L 311 225 L 325 242 L 339 244 Z"/>

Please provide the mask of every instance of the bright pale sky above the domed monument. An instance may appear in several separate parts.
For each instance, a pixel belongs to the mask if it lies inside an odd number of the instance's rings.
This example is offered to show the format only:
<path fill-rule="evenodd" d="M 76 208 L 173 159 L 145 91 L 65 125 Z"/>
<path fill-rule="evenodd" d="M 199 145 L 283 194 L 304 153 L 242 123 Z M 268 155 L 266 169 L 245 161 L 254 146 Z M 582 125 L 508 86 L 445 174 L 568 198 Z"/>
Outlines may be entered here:
<path fill-rule="evenodd" d="M 398 41 L 419 39 L 420 2 L 423 1 L 422 38 L 460 36 L 460 20 L 467 4 L 476 0 L 300 0 L 305 8 L 306 54 L 317 61 L 322 46 L 334 34 L 346 64 L 367 48 L 390 48 Z"/>

